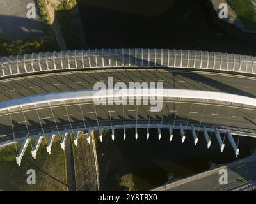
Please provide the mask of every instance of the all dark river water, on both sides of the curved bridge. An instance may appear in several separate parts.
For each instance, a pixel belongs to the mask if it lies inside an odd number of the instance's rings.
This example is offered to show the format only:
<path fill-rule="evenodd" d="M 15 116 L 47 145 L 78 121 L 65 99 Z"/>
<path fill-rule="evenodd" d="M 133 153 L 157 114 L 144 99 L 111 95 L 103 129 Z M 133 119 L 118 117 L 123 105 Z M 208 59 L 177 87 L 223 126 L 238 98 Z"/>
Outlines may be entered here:
<path fill-rule="evenodd" d="M 104 3 L 105 2 L 105 3 Z M 137 2 L 137 3 L 136 3 Z M 209 19 L 205 0 L 159 0 L 120 1 L 79 0 L 88 48 L 177 48 L 209 50 L 255 55 L 255 46 L 236 40 L 221 31 Z M 197 145 L 187 133 L 184 143 L 179 132 L 174 132 L 173 142 L 168 133 L 157 140 L 156 130 L 146 140 L 145 130 L 134 139 L 134 132 L 127 131 L 127 140 L 122 131 L 116 132 L 115 142 L 125 161 L 129 163 L 127 173 L 134 176 L 138 190 L 151 189 L 164 184 L 167 174 L 182 178 L 211 167 L 234 161 L 236 157 L 226 140 L 223 153 L 214 136 L 212 146 L 207 149 L 204 136 L 199 135 Z M 110 139 L 109 139 L 110 140 Z M 255 139 L 240 138 L 239 158 L 250 155 L 256 146 Z"/>

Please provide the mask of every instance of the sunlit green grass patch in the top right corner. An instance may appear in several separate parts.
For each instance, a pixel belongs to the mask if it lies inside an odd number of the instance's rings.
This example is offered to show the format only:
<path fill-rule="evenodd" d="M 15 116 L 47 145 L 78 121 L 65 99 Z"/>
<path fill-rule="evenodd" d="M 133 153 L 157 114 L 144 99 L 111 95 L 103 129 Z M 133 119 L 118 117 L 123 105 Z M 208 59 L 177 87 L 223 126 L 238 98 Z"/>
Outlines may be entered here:
<path fill-rule="evenodd" d="M 231 8 L 243 22 L 244 27 L 256 30 L 256 7 L 251 0 L 229 0 Z"/>

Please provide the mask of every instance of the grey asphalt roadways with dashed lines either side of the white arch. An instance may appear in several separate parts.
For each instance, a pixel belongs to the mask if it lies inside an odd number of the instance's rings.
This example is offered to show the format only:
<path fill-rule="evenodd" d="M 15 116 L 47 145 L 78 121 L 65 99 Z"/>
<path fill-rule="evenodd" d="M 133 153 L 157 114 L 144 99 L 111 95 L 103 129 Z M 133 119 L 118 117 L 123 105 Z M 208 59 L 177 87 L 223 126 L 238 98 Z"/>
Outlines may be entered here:
<path fill-rule="evenodd" d="M 192 71 L 177 71 L 164 69 L 120 69 L 100 71 L 75 71 L 69 73 L 54 73 L 34 75 L 29 77 L 12 78 L 0 81 L 0 99 L 20 98 L 48 92 L 71 91 L 78 89 L 93 89 L 96 82 L 108 83 L 108 77 L 113 77 L 114 82 L 163 82 L 163 87 L 178 89 L 197 89 L 205 91 L 229 92 L 243 96 L 255 96 L 255 78 L 224 73 L 202 73 Z M 168 101 L 164 113 L 149 112 L 149 105 L 138 107 L 136 105 L 93 105 L 92 101 L 81 102 L 81 108 L 77 104 L 59 103 L 56 106 L 37 106 L 37 109 L 12 113 L 13 129 L 9 114 L 0 115 L 0 135 L 16 136 L 32 133 L 36 130 L 44 131 L 61 127 L 76 128 L 86 122 L 86 126 L 110 125 L 120 122 L 134 123 L 136 119 L 141 123 L 163 124 L 205 124 L 209 128 L 212 124 L 217 126 L 255 129 L 256 112 L 252 108 L 239 108 L 226 105 L 211 105 L 191 101 Z M 163 105 L 164 106 L 164 105 Z M 179 107 L 178 107 L 179 106 Z M 124 108 L 124 115 L 123 115 Z M 138 116 L 137 116 L 138 115 Z M 204 116 L 203 116 L 204 115 Z M 125 120 L 125 121 L 124 121 Z"/>

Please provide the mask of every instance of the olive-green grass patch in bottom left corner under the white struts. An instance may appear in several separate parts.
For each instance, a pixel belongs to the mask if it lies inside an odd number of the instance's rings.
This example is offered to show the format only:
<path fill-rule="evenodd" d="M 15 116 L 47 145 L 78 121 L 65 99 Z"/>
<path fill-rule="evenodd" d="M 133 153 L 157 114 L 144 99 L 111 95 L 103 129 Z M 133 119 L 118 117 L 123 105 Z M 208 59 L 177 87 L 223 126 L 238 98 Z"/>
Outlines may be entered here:
<path fill-rule="evenodd" d="M 17 144 L 19 150 L 21 143 Z M 55 138 L 51 154 L 42 141 L 36 160 L 31 157 L 31 145 L 22 158 L 20 166 L 15 161 L 15 145 L 0 149 L 0 190 L 3 191 L 67 191 L 65 152 L 60 147 L 60 139 Z M 28 185 L 27 170 L 36 171 L 36 185 Z"/>

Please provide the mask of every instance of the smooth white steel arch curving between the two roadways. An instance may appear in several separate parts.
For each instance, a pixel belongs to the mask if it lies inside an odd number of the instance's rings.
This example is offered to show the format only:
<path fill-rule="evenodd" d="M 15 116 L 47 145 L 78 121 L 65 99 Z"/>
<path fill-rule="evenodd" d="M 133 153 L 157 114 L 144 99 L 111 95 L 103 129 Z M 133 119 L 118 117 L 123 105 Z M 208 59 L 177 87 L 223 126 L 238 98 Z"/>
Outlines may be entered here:
<path fill-rule="evenodd" d="M 100 99 L 108 98 L 150 98 L 155 97 L 157 101 L 163 101 L 163 98 L 184 98 L 184 99 L 205 99 L 239 105 L 256 106 L 256 98 L 228 94 L 224 92 L 200 91 L 189 89 L 121 89 L 121 90 L 101 90 Z M 67 92 L 53 92 L 49 94 L 40 94 L 17 98 L 0 103 L 0 112 L 11 110 L 12 108 L 22 108 L 24 106 L 38 105 L 42 103 L 52 103 L 58 101 L 69 101 L 77 99 L 92 99 L 99 103 L 99 90 L 79 90 Z M 120 99 L 120 101 L 122 101 Z"/>

